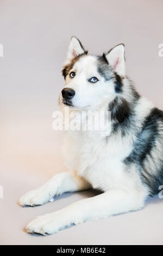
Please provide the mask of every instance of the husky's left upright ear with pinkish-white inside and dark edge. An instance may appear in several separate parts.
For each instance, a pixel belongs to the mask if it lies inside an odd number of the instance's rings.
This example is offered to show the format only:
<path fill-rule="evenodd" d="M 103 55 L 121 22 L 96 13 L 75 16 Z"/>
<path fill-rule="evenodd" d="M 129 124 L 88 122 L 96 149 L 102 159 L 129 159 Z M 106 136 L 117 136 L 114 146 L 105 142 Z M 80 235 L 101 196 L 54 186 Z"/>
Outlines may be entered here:
<path fill-rule="evenodd" d="M 65 64 L 70 63 L 73 58 L 75 58 L 78 55 L 83 54 L 83 53 L 86 53 L 86 51 L 84 50 L 83 45 L 81 44 L 79 39 L 77 39 L 75 36 L 72 36 L 71 41 L 70 41 L 70 45 L 68 47 Z"/>

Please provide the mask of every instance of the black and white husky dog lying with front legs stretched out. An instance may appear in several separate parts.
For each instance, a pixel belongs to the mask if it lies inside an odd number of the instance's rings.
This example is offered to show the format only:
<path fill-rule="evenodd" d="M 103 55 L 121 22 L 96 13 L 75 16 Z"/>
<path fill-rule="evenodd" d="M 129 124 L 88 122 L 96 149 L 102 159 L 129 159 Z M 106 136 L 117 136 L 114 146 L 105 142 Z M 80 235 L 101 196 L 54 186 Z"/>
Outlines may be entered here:
<path fill-rule="evenodd" d="M 37 217 L 27 225 L 29 233 L 53 234 L 73 223 L 139 210 L 163 185 L 163 112 L 126 76 L 124 45 L 92 56 L 72 37 L 62 74 L 61 105 L 76 112 L 109 110 L 111 132 L 104 137 L 100 131 L 67 131 L 70 171 L 25 194 L 20 205 L 42 205 L 89 188 L 103 193 Z"/>

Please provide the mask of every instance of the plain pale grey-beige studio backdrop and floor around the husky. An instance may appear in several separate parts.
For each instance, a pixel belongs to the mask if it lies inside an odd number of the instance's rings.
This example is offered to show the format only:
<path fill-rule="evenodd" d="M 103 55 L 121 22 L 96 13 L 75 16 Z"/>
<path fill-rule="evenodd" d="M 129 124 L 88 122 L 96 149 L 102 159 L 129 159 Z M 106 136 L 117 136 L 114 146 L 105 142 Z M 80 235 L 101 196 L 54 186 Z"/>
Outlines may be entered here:
<path fill-rule="evenodd" d="M 52 130 L 52 113 L 64 79 L 62 63 L 71 35 L 91 53 L 126 44 L 127 74 L 139 92 L 162 103 L 162 0 L 52 1 L 0 0 L 0 199 L 1 244 L 162 244 L 163 203 L 150 199 L 145 209 L 86 223 L 42 237 L 23 228 L 46 214 L 93 192 L 65 194 L 45 206 L 20 208 L 17 200 L 65 170 L 62 133 Z"/>

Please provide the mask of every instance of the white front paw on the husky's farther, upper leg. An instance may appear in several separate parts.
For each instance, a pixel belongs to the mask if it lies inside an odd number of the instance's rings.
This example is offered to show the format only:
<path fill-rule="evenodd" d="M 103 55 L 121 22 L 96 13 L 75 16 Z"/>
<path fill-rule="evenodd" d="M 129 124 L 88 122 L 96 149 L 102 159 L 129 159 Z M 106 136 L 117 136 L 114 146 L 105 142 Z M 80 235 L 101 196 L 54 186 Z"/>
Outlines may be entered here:
<path fill-rule="evenodd" d="M 19 203 L 21 206 L 35 206 L 45 204 L 49 199 L 51 199 L 51 195 L 48 193 L 47 188 L 40 187 L 24 194 Z"/>

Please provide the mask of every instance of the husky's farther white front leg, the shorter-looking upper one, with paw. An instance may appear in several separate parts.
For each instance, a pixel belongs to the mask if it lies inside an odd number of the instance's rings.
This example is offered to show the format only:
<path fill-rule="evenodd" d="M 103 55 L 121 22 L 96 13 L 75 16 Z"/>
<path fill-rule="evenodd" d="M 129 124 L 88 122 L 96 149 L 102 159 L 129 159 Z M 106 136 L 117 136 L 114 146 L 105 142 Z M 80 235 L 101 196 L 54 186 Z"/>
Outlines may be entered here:
<path fill-rule="evenodd" d="M 47 203 L 52 197 L 64 192 L 87 190 L 90 187 L 90 184 L 78 176 L 76 171 L 59 173 L 45 185 L 24 194 L 19 203 L 22 206 L 41 205 Z"/>

